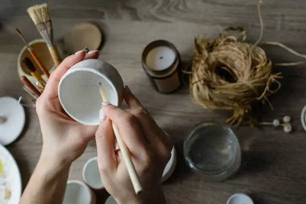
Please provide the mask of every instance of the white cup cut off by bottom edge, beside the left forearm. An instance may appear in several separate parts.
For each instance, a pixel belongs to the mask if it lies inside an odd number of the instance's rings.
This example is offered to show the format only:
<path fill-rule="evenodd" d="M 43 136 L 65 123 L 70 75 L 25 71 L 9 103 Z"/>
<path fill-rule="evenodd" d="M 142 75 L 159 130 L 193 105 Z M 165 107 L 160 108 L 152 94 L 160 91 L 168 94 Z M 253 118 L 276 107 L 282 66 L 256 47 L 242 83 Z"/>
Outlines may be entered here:
<path fill-rule="evenodd" d="M 95 204 L 93 191 L 82 181 L 68 180 L 62 204 Z"/>

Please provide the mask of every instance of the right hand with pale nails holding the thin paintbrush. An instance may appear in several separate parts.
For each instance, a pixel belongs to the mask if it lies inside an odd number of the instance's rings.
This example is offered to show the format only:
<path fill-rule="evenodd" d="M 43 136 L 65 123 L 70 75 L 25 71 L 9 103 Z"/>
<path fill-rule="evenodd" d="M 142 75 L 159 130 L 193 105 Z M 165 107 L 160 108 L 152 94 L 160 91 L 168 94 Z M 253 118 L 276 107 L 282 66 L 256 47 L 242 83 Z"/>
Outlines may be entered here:
<path fill-rule="evenodd" d="M 171 156 L 172 140 L 125 86 L 123 97 L 130 109 L 104 105 L 95 134 L 97 159 L 106 190 L 119 204 L 165 203 L 161 190 L 163 169 Z M 143 187 L 135 195 L 120 149 L 114 148 L 113 122 L 126 144 Z"/>

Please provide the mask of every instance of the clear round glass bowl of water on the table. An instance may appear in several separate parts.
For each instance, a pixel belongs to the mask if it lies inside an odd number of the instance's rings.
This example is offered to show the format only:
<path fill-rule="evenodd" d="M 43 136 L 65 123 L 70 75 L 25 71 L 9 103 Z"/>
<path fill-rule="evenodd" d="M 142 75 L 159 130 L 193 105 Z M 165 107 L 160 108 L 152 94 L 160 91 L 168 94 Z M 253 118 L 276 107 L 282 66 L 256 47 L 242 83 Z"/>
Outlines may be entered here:
<path fill-rule="evenodd" d="M 221 181 L 235 173 L 241 162 L 239 141 L 231 128 L 201 123 L 185 137 L 184 157 L 205 180 Z"/>

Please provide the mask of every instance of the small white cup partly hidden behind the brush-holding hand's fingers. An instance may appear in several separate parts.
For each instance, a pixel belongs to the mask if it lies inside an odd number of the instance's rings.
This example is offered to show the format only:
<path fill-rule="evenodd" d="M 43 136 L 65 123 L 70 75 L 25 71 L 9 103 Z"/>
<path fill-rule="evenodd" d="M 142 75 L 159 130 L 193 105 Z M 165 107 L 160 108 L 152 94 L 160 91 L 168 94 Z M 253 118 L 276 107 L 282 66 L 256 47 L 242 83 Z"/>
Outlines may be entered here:
<path fill-rule="evenodd" d="M 101 180 L 99 168 L 97 165 L 97 157 L 92 157 L 88 159 L 83 167 L 82 176 L 84 181 L 93 189 L 104 188 L 103 182 Z"/>

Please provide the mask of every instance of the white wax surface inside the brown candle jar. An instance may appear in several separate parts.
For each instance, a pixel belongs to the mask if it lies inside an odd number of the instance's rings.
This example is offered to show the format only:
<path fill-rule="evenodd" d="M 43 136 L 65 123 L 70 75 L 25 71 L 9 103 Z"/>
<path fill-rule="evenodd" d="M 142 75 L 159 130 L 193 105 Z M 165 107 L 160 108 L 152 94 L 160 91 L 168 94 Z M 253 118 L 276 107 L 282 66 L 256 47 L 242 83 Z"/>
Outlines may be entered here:
<path fill-rule="evenodd" d="M 161 71 L 168 68 L 175 60 L 175 51 L 167 46 L 151 49 L 145 58 L 145 64 L 151 70 Z"/>

